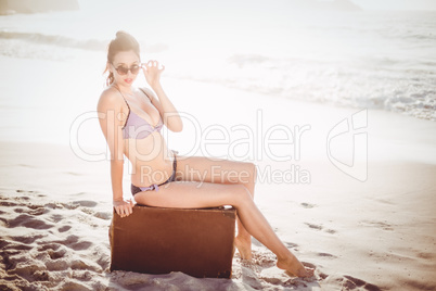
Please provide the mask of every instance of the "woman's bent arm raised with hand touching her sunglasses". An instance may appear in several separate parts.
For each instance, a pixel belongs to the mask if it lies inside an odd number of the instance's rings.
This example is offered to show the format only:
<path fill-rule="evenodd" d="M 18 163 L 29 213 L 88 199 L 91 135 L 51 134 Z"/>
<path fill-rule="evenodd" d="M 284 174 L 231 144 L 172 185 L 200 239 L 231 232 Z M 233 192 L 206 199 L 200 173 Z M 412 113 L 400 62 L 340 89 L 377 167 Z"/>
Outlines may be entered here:
<path fill-rule="evenodd" d="M 144 89 L 149 96 L 152 97 L 152 103 L 164 117 L 164 123 L 168 129 L 179 132 L 183 129 L 183 123 L 180 118 L 179 112 L 176 110 L 175 105 L 169 100 L 161 85 L 161 74 L 164 72 L 165 66 L 163 66 L 163 68 L 158 68 L 158 66 L 159 63 L 157 61 L 149 61 L 143 68 L 145 79 L 152 87 L 153 91 L 157 94 L 158 99 L 152 90 L 148 88 Z"/>

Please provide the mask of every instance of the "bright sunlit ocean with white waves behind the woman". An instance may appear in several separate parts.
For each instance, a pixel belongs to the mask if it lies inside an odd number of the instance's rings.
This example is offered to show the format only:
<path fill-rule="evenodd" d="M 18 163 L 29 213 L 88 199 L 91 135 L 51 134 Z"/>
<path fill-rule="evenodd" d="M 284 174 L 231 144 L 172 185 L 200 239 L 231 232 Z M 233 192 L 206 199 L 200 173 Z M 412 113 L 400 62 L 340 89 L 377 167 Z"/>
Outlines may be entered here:
<path fill-rule="evenodd" d="M 284 98 L 436 121 L 436 12 L 299 11 L 279 0 L 80 3 L 80 11 L 0 16 L 0 55 L 34 61 L 26 72 L 2 65 L 9 86 L 23 87 L 13 100 L 9 89 L 0 97 L 7 135 L 34 123 L 34 109 L 47 115 L 44 126 L 95 110 L 106 47 L 119 29 L 139 40 L 141 61 L 166 66 L 167 78 L 261 93 L 260 107 Z M 48 84 L 31 84 L 36 74 Z M 74 100 L 53 93 L 61 91 Z M 65 104 L 76 115 L 53 112 Z M 14 110 L 27 117 L 14 119 Z"/>

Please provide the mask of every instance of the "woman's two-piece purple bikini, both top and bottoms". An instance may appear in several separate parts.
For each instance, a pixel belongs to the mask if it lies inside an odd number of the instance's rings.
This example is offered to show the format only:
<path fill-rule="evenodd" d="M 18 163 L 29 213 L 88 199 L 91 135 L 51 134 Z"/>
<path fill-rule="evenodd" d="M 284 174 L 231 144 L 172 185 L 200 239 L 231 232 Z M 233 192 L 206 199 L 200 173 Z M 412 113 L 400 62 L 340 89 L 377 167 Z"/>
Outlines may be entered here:
<path fill-rule="evenodd" d="M 118 88 L 117 88 L 118 89 Z M 141 88 L 140 88 L 141 89 Z M 123 138 L 124 139 L 144 139 L 154 131 L 161 132 L 162 127 L 164 126 L 164 123 L 162 121 L 162 117 L 159 116 L 159 122 L 157 123 L 156 126 L 152 126 L 149 124 L 145 119 L 140 117 L 138 114 L 131 111 L 129 103 L 127 102 L 126 98 L 124 97 L 123 92 L 118 89 L 118 91 L 121 93 L 124 101 L 127 104 L 127 107 L 129 109 L 129 113 L 127 115 L 126 124 L 123 126 Z M 148 93 L 141 89 L 141 91 L 150 99 L 150 102 L 152 102 L 152 99 L 148 96 Z M 153 184 L 149 187 L 138 187 L 134 186 L 133 184 L 131 185 L 131 193 L 137 194 L 141 191 L 148 191 L 148 190 L 159 190 L 159 186 L 163 186 L 167 182 L 175 181 L 176 180 L 176 169 L 177 169 L 177 160 L 176 160 L 176 153 L 177 151 L 172 151 L 175 154 L 175 160 L 172 162 L 172 175 L 169 177 L 166 181 L 163 184 Z"/>

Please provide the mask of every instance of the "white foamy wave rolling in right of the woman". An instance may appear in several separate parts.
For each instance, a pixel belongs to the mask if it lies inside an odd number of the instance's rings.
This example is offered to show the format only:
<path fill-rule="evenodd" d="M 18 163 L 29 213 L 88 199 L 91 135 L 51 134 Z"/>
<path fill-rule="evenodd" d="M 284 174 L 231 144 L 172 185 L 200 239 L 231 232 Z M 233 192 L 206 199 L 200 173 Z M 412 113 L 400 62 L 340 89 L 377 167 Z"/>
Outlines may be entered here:
<path fill-rule="evenodd" d="M 352 62 L 233 54 L 221 69 L 177 75 L 267 96 L 380 109 L 436 121 L 433 62 L 367 56 Z M 226 74 L 221 74 L 226 72 Z"/>

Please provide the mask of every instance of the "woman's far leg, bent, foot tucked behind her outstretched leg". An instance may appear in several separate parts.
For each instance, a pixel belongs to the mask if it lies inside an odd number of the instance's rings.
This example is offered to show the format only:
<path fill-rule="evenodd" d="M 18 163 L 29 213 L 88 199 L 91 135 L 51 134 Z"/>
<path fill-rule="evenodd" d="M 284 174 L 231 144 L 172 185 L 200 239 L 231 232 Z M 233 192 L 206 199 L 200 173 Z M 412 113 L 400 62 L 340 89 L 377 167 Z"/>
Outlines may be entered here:
<path fill-rule="evenodd" d="M 256 184 L 256 165 L 248 162 L 211 159 L 205 156 L 177 155 L 177 177 L 184 181 L 203 181 L 215 184 L 239 184 L 245 186 L 252 198 Z M 252 258 L 252 236 L 238 222 L 238 236 L 234 244 L 242 258 Z"/>

